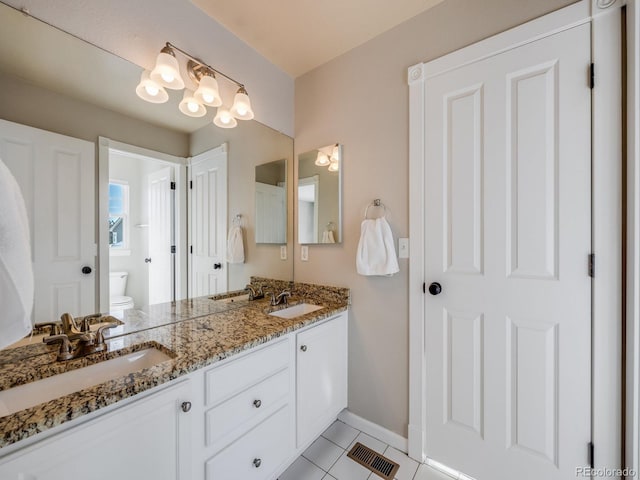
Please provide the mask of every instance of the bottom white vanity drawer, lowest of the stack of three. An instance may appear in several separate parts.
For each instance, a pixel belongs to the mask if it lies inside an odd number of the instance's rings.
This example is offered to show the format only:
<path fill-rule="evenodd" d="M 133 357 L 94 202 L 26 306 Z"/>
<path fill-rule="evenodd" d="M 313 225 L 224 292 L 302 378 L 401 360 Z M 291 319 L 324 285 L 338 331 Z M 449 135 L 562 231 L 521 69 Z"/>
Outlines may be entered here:
<path fill-rule="evenodd" d="M 293 451 L 287 405 L 205 464 L 206 480 L 271 478 Z"/>

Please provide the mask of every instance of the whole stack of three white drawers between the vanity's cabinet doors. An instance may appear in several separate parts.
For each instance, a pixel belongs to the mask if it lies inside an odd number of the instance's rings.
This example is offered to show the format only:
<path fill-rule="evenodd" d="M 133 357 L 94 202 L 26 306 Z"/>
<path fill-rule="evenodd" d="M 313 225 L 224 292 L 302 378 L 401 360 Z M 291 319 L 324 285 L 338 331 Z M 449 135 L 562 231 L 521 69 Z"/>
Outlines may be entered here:
<path fill-rule="evenodd" d="M 274 478 L 294 452 L 290 335 L 204 374 L 204 478 Z"/>

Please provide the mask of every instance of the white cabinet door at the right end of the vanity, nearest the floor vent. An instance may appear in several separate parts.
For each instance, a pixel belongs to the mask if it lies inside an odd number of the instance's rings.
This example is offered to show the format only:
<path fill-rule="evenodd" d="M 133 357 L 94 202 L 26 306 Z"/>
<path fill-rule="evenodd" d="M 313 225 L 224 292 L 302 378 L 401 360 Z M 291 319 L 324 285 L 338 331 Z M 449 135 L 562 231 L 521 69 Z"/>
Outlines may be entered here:
<path fill-rule="evenodd" d="M 347 407 L 347 313 L 296 335 L 296 446 L 320 435 Z"/>

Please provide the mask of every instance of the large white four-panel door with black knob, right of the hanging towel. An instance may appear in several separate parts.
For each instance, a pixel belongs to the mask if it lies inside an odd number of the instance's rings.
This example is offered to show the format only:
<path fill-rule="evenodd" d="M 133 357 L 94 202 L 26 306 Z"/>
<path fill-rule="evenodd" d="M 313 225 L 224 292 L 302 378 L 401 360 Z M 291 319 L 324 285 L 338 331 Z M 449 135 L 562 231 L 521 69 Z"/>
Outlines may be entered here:
<path fill-rule="evenodd" d="M 584 24 L 425 82 L 426 455 L 478 480 L 588 465 L 589 65 Z"/>

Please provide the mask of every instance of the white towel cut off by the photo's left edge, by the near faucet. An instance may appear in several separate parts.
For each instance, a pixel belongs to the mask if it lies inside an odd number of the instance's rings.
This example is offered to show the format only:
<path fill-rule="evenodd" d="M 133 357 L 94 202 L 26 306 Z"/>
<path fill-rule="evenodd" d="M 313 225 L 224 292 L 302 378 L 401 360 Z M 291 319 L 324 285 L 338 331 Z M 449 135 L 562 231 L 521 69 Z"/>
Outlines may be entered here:
<path fill-rule="evenodd" d="M 33 265 L 29 219 L 16 179 L 0 160 L 0 348 L 31 332 Z"/>

